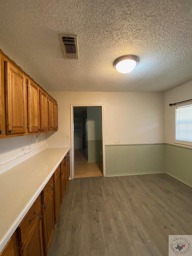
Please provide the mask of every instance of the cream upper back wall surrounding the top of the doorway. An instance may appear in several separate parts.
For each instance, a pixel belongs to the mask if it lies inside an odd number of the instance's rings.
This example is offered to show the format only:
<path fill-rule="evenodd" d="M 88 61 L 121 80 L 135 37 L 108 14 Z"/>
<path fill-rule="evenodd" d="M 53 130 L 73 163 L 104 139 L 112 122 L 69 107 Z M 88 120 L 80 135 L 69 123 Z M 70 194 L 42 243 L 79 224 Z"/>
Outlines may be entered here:
<path fill-rule="evenodd" d="M 164 143 L 164 94 L 160 92 L 49 92 L 58 103 L 58 131 L 46 134 L 48 147 L 71 146 L 70 104 L 104 105 L 105 144 Z"/>

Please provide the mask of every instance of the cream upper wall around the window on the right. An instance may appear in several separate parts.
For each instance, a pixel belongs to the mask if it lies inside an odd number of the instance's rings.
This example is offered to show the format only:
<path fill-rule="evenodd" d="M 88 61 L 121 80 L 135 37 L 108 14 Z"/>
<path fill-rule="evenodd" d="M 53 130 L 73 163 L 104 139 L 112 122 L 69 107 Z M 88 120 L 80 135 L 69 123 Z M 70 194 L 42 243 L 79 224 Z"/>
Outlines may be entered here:
<path fill-rule="evenodd" d="M 186 101 L 192 98 L 192 81 L 173 88 L 164 93 L 165 104 L 165 142 L 175 144 L 175 108 L 177 106 L 190 105 L 192 102 L 185 102 L 170 107 L 170 103 Z M 177 144 L 175 144 L 177 145 Z M 185 146 L 191 148 L 191 146 Z"/>

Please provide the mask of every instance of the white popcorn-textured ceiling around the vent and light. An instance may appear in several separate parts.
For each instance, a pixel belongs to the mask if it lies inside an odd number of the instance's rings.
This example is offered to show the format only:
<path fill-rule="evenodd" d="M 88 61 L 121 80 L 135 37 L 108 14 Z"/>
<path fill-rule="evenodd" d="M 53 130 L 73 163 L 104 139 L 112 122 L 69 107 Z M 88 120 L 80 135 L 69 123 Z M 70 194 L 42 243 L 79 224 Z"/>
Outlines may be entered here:
<path fill-rule="evenodd" d="M 46 90 L 164 92 L 192 80 L 192 1 L 1 0 L 0 48 Z M 125 54 L 140 58 L 129 74 L 113 68 Z"/>

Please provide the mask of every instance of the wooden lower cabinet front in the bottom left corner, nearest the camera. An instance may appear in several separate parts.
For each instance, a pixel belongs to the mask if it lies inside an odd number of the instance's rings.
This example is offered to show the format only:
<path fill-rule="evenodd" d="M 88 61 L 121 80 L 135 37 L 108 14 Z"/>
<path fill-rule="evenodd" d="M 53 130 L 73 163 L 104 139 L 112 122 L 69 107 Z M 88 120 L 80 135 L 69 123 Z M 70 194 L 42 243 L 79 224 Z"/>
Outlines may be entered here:
<path fill-rule="evenodd" d="M 16 232 L 13 233 L 7 244 L 5 245 L 3 251 L 1 251 L 0 256 L 18 256 L 18 241 L 16 238 Z"/>

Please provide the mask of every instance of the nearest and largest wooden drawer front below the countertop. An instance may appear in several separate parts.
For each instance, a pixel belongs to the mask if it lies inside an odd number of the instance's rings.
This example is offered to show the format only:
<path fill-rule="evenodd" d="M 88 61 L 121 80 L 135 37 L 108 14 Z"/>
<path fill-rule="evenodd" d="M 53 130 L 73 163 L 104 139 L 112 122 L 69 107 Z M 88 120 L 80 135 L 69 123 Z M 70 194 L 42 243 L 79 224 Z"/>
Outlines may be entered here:
<path fill-rule="evenodd" d="M 39 195 L 35 203 L 31 206 L 28 213 L 23 218 L 22 222 L 19 224 L 19 232 L 21 237 L 21 243 L 23 244 L 31 230 L 35 220 L 41 214 L 41 196 Z"/>

